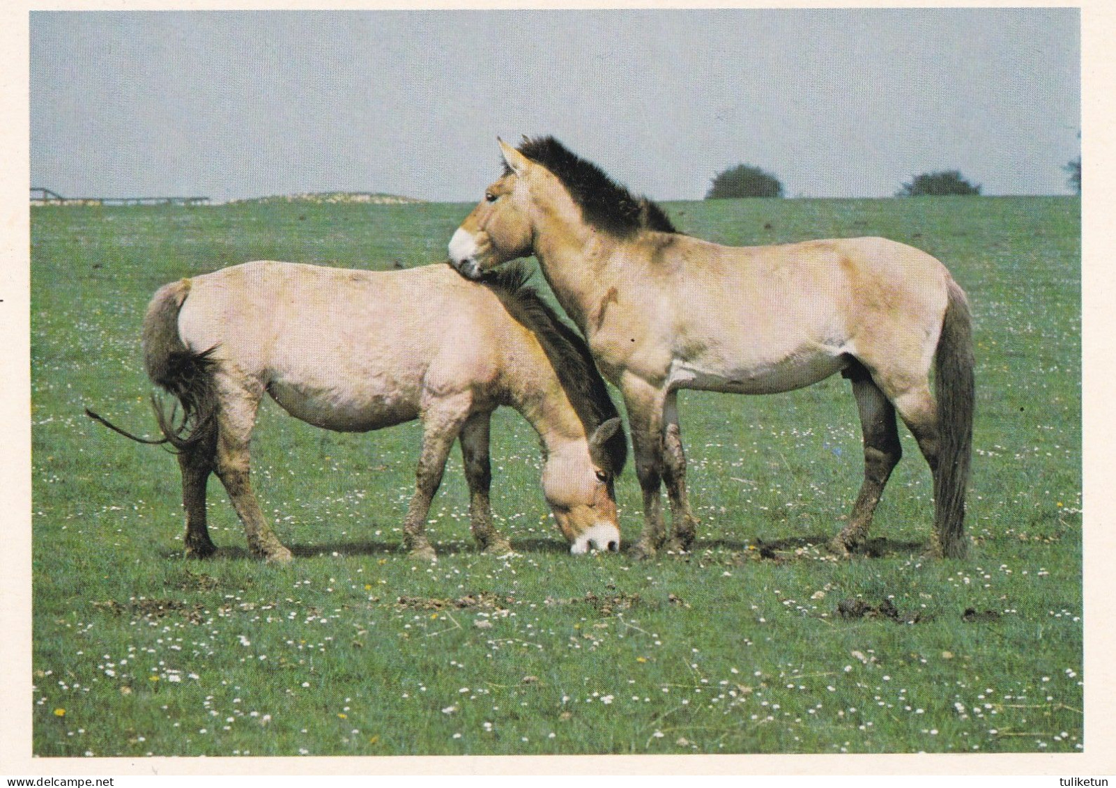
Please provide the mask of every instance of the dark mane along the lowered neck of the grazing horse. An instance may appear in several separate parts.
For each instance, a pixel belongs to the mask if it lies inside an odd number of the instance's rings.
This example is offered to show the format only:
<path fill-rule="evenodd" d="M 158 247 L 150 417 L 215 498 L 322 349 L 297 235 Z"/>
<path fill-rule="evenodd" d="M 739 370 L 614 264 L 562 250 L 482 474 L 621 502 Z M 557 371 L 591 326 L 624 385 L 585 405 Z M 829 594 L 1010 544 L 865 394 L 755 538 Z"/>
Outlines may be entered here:
<path fill-rule="evenodd" d="M 555 314 L 535 288 L 527 285 L 530 276 L 531 271 L 525 266 L 512 265 L 490 273 L 483 284 L 497 295 L 508 313 L 538 338 L 586 433 L 593 434 L 604 422 L 619 415 L 616 404 L 597 372 L 588 345 Z M 619 475 L 627 460 L 624 430 L 616 431 L 605 451 L 609 462 L 607 470 Z"/>

